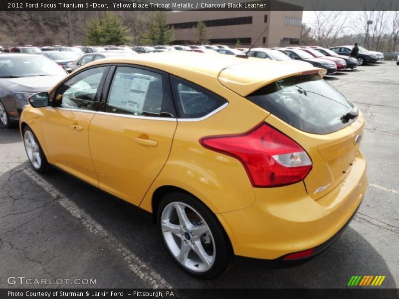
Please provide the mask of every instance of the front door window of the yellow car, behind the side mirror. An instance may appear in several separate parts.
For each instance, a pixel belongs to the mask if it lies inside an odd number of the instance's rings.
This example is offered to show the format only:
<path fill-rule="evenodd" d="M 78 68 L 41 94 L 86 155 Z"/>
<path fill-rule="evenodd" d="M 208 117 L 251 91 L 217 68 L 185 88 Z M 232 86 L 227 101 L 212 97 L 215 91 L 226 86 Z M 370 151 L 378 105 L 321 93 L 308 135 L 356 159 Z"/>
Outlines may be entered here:
<path fill-rule="evenodd" d="M 85 70 L 59 86 L 55 92 L 59 107 L 92 110 L 106 67 Z"/>

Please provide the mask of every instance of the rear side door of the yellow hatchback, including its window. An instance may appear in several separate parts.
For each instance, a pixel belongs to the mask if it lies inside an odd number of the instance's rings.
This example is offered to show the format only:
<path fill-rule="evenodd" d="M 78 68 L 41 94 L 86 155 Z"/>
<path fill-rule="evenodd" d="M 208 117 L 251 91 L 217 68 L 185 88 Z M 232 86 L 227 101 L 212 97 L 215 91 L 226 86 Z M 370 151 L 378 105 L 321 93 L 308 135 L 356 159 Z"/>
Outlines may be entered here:
<path fill-rule="evenodd" d="M 139 205 L 168 159 L 177 127 L 169 77 L 118 66 L 107 81 L 104 111 L 89 129 L 93 165 L 102 189 Z"/>

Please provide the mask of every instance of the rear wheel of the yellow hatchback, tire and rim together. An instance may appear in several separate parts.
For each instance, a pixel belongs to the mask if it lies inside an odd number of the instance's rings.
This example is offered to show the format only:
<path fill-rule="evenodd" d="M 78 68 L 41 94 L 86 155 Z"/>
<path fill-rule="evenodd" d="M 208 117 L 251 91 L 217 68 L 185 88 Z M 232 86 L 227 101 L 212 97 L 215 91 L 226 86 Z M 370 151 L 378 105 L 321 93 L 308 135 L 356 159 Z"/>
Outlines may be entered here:
<path fill-rule="evenodd" d="M 233 251 L 216 216 L 195 197 L 172 192 L 157 212 L 165 247 L 185 271 L 200 279 L 225 272 Z"/>

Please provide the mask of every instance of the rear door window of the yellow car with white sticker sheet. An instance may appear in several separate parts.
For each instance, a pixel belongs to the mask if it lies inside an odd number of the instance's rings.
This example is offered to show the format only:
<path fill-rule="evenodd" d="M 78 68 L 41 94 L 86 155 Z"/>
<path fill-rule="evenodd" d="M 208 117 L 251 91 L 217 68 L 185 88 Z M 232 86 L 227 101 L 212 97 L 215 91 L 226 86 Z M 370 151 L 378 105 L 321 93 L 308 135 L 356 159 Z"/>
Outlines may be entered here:
<path fill-rule="evenodd" d="M 163 99 L 163 75 L 133 67 L 118 67 L 105 111 L 159 117 Z"/>

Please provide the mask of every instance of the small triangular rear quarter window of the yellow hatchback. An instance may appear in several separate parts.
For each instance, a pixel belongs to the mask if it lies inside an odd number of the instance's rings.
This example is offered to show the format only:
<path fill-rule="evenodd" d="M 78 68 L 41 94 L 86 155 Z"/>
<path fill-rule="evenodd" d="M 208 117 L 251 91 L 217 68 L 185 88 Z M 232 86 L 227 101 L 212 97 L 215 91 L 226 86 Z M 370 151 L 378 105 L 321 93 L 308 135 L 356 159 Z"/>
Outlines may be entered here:
<path fill-rule="evenodd" d="M 227 101 L 188 81 L 173 80 L 180 118 L 201 118 Z"/>

